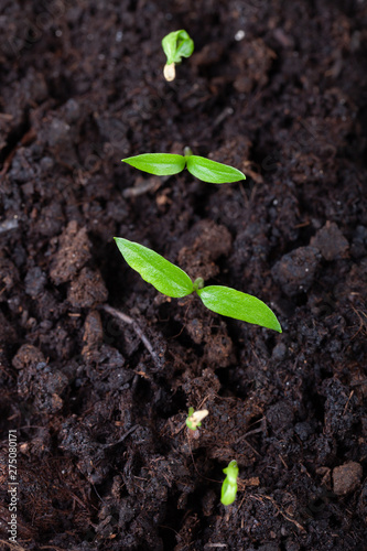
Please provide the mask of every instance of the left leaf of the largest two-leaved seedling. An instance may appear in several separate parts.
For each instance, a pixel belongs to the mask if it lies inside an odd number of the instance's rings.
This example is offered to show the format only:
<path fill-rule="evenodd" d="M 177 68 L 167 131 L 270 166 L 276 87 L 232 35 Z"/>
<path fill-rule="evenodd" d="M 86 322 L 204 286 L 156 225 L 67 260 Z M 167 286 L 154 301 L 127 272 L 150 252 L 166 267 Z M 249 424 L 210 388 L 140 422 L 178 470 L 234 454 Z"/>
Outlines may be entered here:
<path fill-rule="evenodd" d="M 158 252 L 122 237 L 115 241 L 128 264 L 160 293 L 180 299 L 194 291 L 187 273 Z"/>

